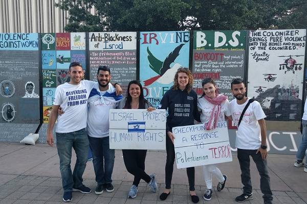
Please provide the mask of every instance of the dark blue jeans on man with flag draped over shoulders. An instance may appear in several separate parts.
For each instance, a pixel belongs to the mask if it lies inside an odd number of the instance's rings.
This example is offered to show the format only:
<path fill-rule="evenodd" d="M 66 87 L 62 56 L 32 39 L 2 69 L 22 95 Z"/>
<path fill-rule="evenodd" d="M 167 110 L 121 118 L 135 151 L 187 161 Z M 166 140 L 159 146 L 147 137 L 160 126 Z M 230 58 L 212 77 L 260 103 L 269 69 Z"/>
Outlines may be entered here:
<path fill-rule="evenodd" d="M 89 141 L 92 149 L 93 165 L 97 184 L 111 184 L 115 150 L 110 149 L 109 137 L 95 138 L 89 136 Z"/>

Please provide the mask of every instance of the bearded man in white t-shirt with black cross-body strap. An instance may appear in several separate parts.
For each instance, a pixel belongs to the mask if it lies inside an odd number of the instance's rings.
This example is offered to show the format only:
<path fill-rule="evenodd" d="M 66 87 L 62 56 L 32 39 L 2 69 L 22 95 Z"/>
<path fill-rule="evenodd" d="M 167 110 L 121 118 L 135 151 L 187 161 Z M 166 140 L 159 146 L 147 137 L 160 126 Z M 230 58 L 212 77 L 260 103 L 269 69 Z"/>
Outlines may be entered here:
<path fill-rule="evenodd" d="M 267 130 L 265 117 L 258 101 L 249 105 L 244 113 L 243 119 L 238 125 L 248 101 L 251 99 L 245 96 L 246 87 L 242 79 L 236 78 L 231 81 L 231 91 L 236 98 L 229 104 L 232 120 L 238 127 L 235 145 L 237 147 L 237 157 L 241 169 L 241 181 L 244 185 L 243 194 L 235 198 L 238 202 L 251 200 L 252 183 L 250 175 L 250 156 L 254 160 L 260 174 L 260 189 L 264 194 L 265 204 L 271 204 L 273 197 L 270 188 L 270 176 L 267 167 Z"/>

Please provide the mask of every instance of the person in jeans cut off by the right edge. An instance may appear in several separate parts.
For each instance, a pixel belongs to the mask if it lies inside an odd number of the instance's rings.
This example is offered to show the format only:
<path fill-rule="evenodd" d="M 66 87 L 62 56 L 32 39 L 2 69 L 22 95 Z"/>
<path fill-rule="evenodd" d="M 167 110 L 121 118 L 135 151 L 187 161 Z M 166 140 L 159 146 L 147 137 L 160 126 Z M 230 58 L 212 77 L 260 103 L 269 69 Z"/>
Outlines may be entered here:
<path fill-rule="evenodd" d="M 307 149 L 307 98 L 305 100 L 301 128 L 302 128 L 303 137 L 302 137 L 302 142 L 300 143 L 296 153 L 296 161 L 294 163 L 294 166 L 303 167 L 305 165 L 304 172 L 307 172 L 307 157 L 305 157 L 305 152 Z M 304 157 L 305 157 L 305 164 L 303 163 Z"/>

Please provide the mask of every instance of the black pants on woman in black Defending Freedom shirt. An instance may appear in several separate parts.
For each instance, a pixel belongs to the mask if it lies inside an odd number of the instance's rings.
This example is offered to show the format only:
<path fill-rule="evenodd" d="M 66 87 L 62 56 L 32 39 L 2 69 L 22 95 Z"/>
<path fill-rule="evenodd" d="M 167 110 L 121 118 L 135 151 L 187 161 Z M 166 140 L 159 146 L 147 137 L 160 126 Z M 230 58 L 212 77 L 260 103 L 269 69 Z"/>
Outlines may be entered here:
<path fill-rule="evenodd" d="M 165 164 L 165 188 L 170 189 L 172 172 L 175 161 L 174 145 L 166 134 L 166 164 Z M 189 181 L 189 190 L 195 190 L 195 169 L 194 167 L 187 168 L 187 175 Z"/>

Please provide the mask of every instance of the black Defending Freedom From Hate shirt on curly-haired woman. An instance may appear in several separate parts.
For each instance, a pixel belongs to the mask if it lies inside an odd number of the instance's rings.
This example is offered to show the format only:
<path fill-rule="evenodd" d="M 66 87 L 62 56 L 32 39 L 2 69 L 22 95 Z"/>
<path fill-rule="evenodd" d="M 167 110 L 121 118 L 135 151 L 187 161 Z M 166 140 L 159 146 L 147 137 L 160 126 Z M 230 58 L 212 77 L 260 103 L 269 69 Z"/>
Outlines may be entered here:
<path fill-rule="evenodd" d="M 197 109 L 197 94 L 191 90 L 174 90 L 172 87 L 166 91 L 161 100 L 160 109 L 168 110 L 166 132 L 172 132 L 173 127 L 194 124 L 194 119 L 200 121 Z"/>

